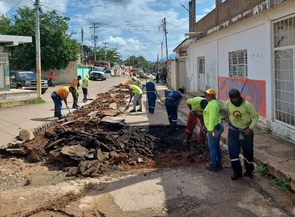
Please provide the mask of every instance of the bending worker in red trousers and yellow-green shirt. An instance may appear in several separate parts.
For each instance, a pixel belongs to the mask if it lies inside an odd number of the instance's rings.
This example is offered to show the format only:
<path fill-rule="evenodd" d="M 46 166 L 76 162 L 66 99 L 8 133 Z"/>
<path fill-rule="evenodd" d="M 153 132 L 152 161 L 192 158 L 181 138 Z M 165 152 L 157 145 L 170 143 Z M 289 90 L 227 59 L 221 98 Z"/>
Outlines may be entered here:
<path fill-rule="evenodd" d="M 201 96 L 197 96 L 197 97 L 188 99 L 186 101 L 186 103 L 187 103 L 187 106 L 190 110 L 190 113 L 189 113 L 189 116 L 187 119 L 185 139 L 184 139 L 183 143 L 188 143 L 188 141 L 190 140 L 190 138 L 193 135 L 193 131 L 194 131 L 197 123 L 199 122 L 199 124 L 201 125 L 200 134 L 199 134 L 199 143 L 205 144 L 206 136 L 203 131 L 203 129 L 205 127 L 203 112 L 208 104 L 208 101 L 207 101 L 207 99 L 205 99 Z"/>

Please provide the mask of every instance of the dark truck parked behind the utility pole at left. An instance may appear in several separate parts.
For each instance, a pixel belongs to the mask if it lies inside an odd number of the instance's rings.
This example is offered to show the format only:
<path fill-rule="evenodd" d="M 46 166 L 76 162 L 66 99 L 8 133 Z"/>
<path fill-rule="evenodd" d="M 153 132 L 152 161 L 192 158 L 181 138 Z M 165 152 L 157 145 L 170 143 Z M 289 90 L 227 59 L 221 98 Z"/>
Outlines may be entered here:
<path fill-rule="evenodd" d="M 37 90 L 37 76 L 32 71 L 10 71 L 10 88 Z M 46 93 L 48 84 L 46 80 L 41 80 L 41 93 Z"/>

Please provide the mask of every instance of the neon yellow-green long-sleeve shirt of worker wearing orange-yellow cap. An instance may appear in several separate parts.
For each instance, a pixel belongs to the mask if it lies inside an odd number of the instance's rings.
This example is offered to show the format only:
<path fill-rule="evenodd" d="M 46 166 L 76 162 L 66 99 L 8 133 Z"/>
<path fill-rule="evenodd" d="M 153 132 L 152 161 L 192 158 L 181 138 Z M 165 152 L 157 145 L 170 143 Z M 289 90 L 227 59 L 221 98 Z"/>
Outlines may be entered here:
<path fill-rule="evenodd" d="M 221 123 L 220 103 L 216 99 L 208 102 L 204 109 L 204 124 L 208 131 L 213 131 L 214 126 Z"/>

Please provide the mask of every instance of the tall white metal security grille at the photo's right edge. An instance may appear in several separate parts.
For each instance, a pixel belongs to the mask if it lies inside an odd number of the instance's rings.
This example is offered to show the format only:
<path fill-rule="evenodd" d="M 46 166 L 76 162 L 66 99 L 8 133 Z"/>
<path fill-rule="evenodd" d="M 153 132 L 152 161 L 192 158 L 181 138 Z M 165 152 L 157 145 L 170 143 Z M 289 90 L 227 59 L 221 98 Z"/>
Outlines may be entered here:
<path fill-rule="evenodd" d="M 273 22 L 275 121 L 295 129 L 295 16 Z"/>

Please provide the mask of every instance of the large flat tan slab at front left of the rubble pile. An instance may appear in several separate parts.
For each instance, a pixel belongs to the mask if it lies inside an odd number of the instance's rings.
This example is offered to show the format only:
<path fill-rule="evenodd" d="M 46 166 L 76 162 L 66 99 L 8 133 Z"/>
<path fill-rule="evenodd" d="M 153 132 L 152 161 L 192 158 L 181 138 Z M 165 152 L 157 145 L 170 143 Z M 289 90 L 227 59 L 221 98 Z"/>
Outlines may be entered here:
<path fill-rule="evenodd" d="M 65 146 L 61 148 L 60 154 L 74 161 L 85 160 L 85 155 L 89 153 L 88 149 L 81 145 Z"/>

